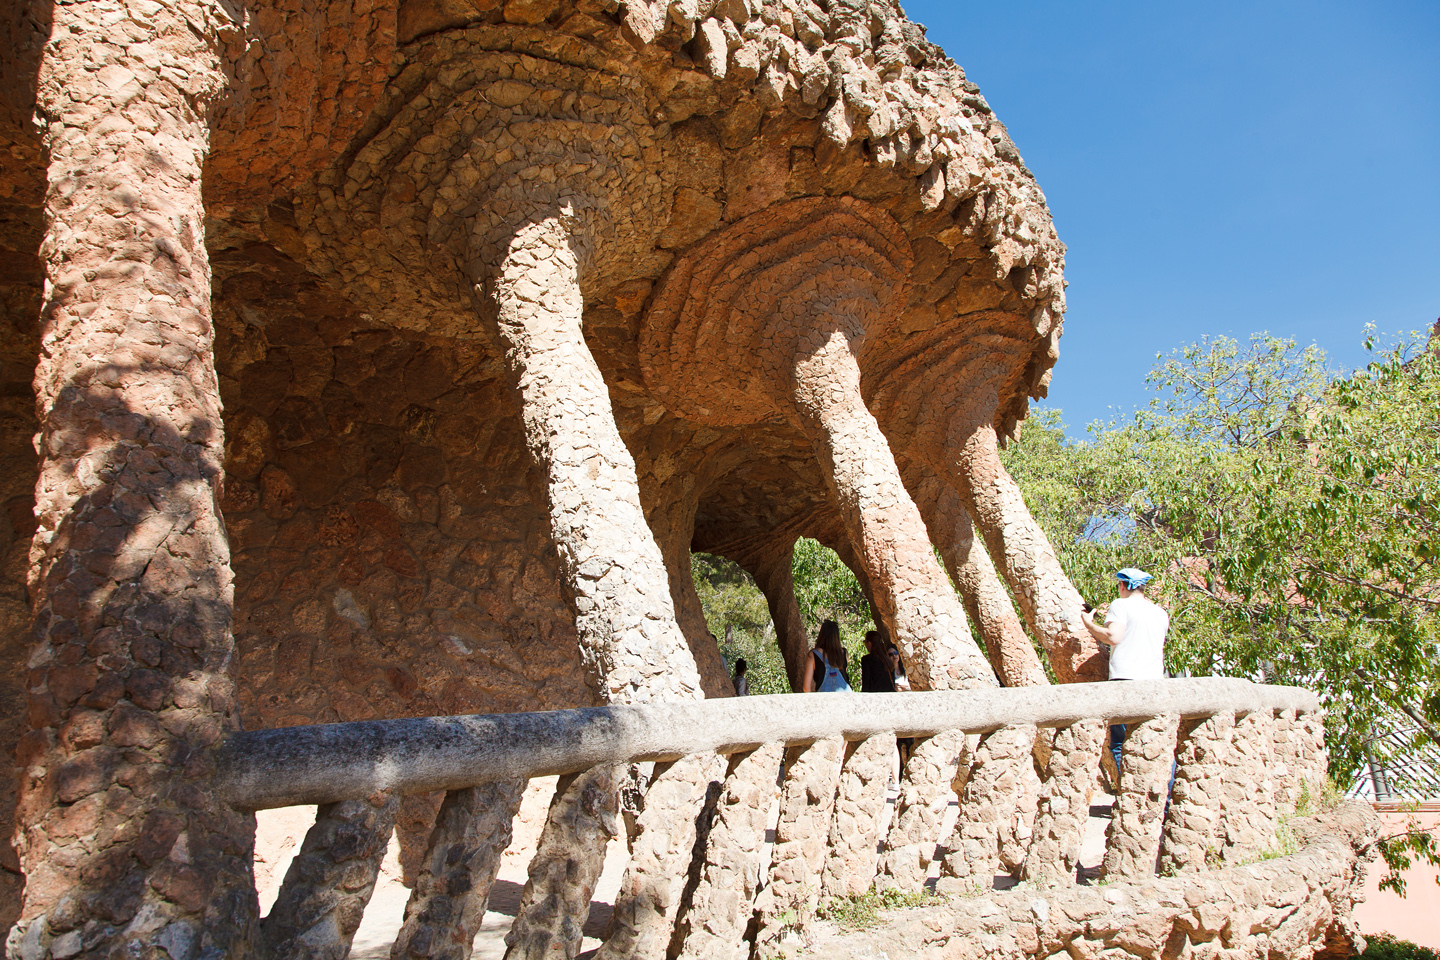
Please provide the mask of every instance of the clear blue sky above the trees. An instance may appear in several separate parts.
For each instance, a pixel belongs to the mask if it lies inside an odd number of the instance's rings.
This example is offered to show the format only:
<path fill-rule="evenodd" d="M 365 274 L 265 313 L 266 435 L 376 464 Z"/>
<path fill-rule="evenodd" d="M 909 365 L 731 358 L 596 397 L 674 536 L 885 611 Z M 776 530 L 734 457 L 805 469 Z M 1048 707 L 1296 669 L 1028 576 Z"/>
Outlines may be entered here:
<path fill-rule="evenodd" d="M 1440 317 L 1440 1 L 910 0 L 1068 245 L 1047 406 L 1149 399 L 1156 353 L 1256 331 L 1367 361 Z"/>

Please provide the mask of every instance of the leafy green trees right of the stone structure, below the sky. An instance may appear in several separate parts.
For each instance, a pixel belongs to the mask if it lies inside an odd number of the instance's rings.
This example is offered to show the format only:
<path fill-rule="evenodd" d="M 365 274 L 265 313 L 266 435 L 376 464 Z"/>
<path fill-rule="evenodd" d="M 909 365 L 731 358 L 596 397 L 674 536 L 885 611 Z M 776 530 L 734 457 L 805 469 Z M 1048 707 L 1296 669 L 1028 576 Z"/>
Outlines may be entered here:
<path fill-rule="evenodd" d="M 1426 340 L 1335 376 L 1315 347 L 1218 338 L 1161 358 L 1149 383 L 1133 422 L 1071 443 L 1041 413 L 1005 453 L 1081 592 L 1107 599 L 1117 567 L 1145 567 L 1172 612 L 1172 671 L 1316 689 L 1341 783 L 1440 741 L 1440 358 Z"/>

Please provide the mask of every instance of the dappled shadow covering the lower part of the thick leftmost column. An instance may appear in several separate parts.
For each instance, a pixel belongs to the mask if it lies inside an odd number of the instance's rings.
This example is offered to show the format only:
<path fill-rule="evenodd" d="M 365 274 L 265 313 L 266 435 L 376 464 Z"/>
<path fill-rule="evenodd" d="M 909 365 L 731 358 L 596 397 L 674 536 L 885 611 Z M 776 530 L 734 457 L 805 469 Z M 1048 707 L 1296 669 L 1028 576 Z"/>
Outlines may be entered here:
<path fill-rule="evenodd" d="M 52 501 L 63 512 L 32 574 L 43 581 L 16 754 L 32 908 L 120 925 L 158 895 L 239 931 L 229 914 L 246 913 L 253 818 L 210 784 L 210 750 L 236 724 L 215 406 L 168 367 L 75 379 L 86 386 L 50 415 L 46 481 L 85 492 Z M 137 396 L 173 403 L 147 416 Z"/>

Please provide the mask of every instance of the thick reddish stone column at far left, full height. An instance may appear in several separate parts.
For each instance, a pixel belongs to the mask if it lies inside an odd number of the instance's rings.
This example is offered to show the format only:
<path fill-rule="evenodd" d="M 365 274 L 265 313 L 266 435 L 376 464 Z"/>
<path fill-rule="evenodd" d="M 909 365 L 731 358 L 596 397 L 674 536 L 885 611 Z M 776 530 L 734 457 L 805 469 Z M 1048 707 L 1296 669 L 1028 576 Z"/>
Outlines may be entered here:
<path fill-rule="evenodd" d="M 46 4 L 16 957 L 240 956 L 253 934 L 255 820 L 212 789 L 238 718 L 200 174 L 229 9 Z"/>

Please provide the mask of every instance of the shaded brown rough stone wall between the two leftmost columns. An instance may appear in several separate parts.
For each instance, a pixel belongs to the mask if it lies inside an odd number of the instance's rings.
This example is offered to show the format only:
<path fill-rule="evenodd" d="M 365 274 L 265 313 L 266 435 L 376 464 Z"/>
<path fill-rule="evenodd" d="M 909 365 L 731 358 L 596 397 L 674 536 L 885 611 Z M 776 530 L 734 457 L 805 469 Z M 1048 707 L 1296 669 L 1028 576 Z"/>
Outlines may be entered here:
<path fill-rule="evenodd" d="M 246 725 L 595 702 L 494 360 L 245 256 L 216 259 Z"/>

